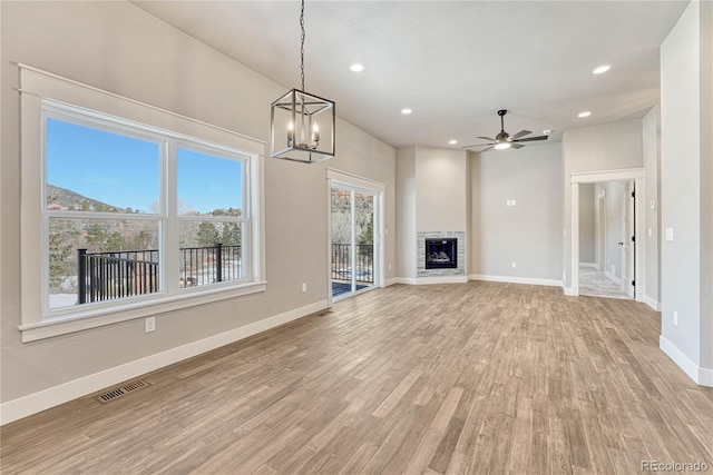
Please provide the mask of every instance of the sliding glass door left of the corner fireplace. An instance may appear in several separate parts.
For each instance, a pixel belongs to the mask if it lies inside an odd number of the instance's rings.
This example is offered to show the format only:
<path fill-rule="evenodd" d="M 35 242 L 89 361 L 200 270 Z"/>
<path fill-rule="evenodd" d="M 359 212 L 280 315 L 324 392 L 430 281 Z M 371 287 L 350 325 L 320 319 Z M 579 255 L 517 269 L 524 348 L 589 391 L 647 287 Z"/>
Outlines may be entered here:
<path fill-rule="evenodd" d="M 330 170 L 330 296 L 351 297 L 380 286 L 381 190 Z"/>

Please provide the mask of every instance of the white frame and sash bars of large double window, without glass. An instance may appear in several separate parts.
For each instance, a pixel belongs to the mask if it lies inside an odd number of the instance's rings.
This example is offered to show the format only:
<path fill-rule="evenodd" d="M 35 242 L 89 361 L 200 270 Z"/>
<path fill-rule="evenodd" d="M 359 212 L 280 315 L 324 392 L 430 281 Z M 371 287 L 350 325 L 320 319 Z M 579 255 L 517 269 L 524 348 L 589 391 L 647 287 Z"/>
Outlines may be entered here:
<path fill-rule="evenodd" d="M 263 141 L 58 76 L 20 66 L 21 85 L 21 314 L 22 342 L 96 328 L 226 298 L 266 290 L 264 277 Z M 159 212 L 128 214 L 47 209 L 47 118 L 99 128 L 139 139 L 163 141 L 159 165 Z M 69 118 L 69 120 L 67 120 Z M 159 142 L 160 144 L 160 142 Z M 173 147 L 173 148 L 172 148 Z M 237 159 L 243 174 L 245 279 L 182 288 L 178 283 L 176 158 L 178 147 Z M 68 219 L 140 219 L 157 221 L 163 275 L 158 293 L 104 303 L 49 308 L 50 217 Z M 221 220 L 206 215 L 205 220 Z M 224 219 L 223 219 L 224 220 Z M 243 225 L 241 225 L 243 226 Z M 42 249 L 37 253 L 37 249 Z M 172 256 L 172 253 L 176 253 Z M 173 270 L 176 270 L 174 276 Z M 174 278 L 175 283 L 173 283 Z M 37 298 L 38 283 L 42 298 Z"/>

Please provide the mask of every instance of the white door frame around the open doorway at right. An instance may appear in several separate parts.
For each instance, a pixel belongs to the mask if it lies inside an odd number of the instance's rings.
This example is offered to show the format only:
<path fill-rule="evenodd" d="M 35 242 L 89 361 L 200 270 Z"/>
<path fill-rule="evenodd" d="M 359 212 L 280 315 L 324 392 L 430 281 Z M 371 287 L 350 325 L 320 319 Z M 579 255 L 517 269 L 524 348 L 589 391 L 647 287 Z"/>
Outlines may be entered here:
<path fill-rule="evenodd" d="M 646 216 L 645 178 L 643 168 L 623 168 L 619 170 L 585 171 L 570 176 L 570 232 L 569 232 L 569 276 L 572 287 L 568 295 L 579 296 L 579 184 L 597 184 L 602 181 L 628 181 L 634 180 L 636 189 L 634 236 L 636 240 L 634 250 L 636 276 L 636 300 L 646 301 L 646 239 L 644 236 Z"/>

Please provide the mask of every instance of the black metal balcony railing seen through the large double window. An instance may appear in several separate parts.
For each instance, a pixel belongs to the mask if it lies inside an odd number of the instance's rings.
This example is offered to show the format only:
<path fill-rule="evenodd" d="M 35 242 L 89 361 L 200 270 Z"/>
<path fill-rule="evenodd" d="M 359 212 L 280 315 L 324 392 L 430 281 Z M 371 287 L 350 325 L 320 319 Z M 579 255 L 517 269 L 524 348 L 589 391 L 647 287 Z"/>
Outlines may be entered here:
<path fill-rule="evenodd" d="M 87 253 L 77 249 L 79 304 L 159 290 L 158 249 Z M 180 287 L 242 277 L 241 246 L 180 248 Z"/>

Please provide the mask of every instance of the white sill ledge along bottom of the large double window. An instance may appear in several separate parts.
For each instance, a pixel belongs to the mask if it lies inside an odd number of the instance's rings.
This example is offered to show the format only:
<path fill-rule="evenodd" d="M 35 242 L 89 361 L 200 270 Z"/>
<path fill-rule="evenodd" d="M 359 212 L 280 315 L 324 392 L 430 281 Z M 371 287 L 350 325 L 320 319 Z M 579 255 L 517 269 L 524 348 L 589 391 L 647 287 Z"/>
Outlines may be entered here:
<path fill-rule="evenodd" d="M 227 298 L 257 294 L 266 289 L 267 283 L 265 281 L 245 284 L 229 289 L 206 289 L 179 296 L 158 297 L 150 301 L 131 301 L 111 308 L 92 308 L 56 317 L 51 320 L 47 319 L 37 324 L 21 325 L 19 329 L 22 333 L 22 343 L 36 342 Z"/>

